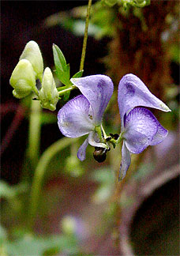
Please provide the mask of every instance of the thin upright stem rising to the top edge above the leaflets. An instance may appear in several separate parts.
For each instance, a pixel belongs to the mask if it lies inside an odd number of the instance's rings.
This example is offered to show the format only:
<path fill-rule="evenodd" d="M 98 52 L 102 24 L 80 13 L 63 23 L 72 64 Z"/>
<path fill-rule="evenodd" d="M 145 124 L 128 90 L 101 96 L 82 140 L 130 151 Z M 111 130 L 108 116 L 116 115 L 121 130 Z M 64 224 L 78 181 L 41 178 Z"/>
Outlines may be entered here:
<path fill-rule="evenodd" d="M 85 52 L 86 52 L 86 46 L 87 46 L 87 40 L 88 40 L 88 21 L 89 21 L 91 6 L 92 6 L 92 0 L 88 0 L 88 9 L 87 9 L 87 15 L 86 15 L 86 21 L 85 21 L 84 40 L 83 40 L 83 48 L 82 48 L 82 54 L 81 54 L 80 70 L 84 69 L 84 58 L 85 58 Z"/>

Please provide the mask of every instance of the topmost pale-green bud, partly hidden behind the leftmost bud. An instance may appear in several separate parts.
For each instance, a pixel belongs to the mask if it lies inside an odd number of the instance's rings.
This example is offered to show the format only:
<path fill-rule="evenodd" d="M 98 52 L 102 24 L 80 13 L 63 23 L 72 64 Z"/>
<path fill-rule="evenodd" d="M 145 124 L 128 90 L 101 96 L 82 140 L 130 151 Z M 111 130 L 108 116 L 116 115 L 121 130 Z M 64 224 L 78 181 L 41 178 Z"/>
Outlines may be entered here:
<path fill-rule="evenodd" d="M 35 41 L 29 41 L 24 51 L 20 56 L 21 59 L 28 59 L 29 62 L 32 63 L 33 70 L 36 73 L 36 78 L 39 78 L 42 81 L 43 77 L 43 57 L 39 50 L 39 46 Z"/>

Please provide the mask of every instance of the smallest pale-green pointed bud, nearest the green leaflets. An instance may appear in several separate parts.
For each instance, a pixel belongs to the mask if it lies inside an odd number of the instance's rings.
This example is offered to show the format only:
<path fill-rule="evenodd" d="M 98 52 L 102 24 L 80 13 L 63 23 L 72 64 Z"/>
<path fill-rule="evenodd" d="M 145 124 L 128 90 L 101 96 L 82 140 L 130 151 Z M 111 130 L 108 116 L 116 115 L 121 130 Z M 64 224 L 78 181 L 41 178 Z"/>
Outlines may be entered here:
<path fill-rule="evenodd" d="M 42 87 L 39 90 L 39 100 L 43 108 L 54 111 L 58 103 L 58 90 L 55 86 L 54 78 L 50 68 L 46 68 L 43 73 Z"/>

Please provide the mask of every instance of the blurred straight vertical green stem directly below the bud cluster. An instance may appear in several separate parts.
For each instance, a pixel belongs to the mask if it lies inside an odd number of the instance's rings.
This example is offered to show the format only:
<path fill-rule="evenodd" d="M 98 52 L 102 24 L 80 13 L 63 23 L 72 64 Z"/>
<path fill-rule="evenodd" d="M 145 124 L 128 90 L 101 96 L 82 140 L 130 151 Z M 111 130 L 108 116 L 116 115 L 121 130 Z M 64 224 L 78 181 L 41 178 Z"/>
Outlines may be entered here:
<path fill-rule="evenodd" d="M 28 133 L 28 157 L 32 163 L 32 168 L 36 168 L 39 160 L 41 111 L 39 100 L 32 100 Z"/>

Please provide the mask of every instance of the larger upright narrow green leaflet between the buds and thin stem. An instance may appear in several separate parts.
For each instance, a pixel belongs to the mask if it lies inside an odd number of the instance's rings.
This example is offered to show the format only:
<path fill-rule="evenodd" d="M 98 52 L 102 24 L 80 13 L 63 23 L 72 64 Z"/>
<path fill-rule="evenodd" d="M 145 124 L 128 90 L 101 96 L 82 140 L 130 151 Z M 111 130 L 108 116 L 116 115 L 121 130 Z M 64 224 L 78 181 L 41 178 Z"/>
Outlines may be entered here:
<path fill-rule="evenodd" d="M 54 55 L 54 64 L 55 64 L 55 73 L 58 79 L 64 85 L 72 85 L 69 81 L 70 73 L 69 73 L 69 64 L 66 64 L 66 58 L 62 54 L 62 51 L 59 47 L 53 44 L 53 55 Z"/>

